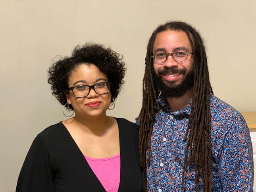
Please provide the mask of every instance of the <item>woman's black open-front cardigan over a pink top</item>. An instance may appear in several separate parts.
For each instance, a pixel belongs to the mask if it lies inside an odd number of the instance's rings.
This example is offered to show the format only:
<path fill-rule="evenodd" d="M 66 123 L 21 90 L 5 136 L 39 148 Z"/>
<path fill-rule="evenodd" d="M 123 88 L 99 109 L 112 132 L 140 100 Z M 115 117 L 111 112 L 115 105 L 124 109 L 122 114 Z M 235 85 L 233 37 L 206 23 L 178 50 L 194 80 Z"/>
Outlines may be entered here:
<path fill-rule="evenodd" d="M 142 191 L 138 126 L 116 118 L 120 142 L 119 192 Z M 16 192 L 105 191 L 62 123 L 37 135 L 25 158 Z"/>

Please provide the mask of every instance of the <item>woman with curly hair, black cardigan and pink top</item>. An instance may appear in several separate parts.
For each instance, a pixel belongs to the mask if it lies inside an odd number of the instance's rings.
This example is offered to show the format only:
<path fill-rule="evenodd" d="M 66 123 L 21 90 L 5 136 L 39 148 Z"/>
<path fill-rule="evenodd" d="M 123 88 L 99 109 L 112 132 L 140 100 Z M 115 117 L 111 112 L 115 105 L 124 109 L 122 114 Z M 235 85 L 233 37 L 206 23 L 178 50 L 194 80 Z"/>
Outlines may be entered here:
<path fill-rule="evenodd" d="M 49 68 L 52 94 L 75 117 L 37 135 L 16 192 L 142 190 L 138 127 L 106 115 L 123 84 L 121 59 L 108 48 L 85 44 Z"/>

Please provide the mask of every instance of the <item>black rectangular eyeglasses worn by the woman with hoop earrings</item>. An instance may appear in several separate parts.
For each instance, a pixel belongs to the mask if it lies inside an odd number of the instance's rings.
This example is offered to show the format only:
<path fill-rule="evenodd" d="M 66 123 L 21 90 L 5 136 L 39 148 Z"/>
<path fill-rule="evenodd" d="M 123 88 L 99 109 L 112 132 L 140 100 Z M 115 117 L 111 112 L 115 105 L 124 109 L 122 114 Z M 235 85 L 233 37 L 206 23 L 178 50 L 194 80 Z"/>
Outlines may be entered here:
<path fill-rule="evenodd" d="M 91 89 L 93 89 L 96 94 L 106 94 L 110 90 L 110 82 L 96 83 L 93 85 L 81 84 L 67 88 L 67 90 L 71 90 L 73 95 L 78 98 L 89 95 Z"/>

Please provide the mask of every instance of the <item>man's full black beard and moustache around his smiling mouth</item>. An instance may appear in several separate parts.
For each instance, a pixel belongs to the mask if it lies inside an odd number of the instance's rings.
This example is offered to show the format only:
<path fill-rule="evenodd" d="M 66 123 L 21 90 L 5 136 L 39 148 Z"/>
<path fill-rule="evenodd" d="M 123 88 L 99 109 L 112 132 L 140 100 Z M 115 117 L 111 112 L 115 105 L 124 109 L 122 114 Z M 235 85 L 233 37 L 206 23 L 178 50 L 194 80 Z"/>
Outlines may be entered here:
<path fill-rule="evenodd" d="M 157 89 L 162 91 L 164 97 L 174 97 L 179 98 L 183 96 L 189 89 L 194 85 L 194 71 L 192 69 L 187 71 L 186 69 L 176 69 L 176 68 L 165 68 L 158 71 L 158 74 L 153 74 L 153 81 Z M 163 81 L 161 75 L 168 73 L 179 73 L 184 75 L 184 79 L 179 83 L 175 84 L 175 81 L 167 82 Z"/>

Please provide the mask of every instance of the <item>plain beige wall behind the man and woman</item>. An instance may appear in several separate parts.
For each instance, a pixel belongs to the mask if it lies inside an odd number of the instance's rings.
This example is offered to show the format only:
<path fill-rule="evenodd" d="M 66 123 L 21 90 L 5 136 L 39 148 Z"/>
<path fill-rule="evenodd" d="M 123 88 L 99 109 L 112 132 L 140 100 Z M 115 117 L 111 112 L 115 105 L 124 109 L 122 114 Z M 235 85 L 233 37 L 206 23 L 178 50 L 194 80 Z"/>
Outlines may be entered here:
<path fill-rule="evenodd" d="M 126 83 L 108 114 L 134 121 L 152 31 L 186 21 L 204 39 L 215 95 L 256 111 L 255 7 L 255 0 L 0 0 L 0 192 L 14 191 L 36 134 L 65 119 L 46 71 L 77 44 L 94 41 L 124 55 Z"/>

